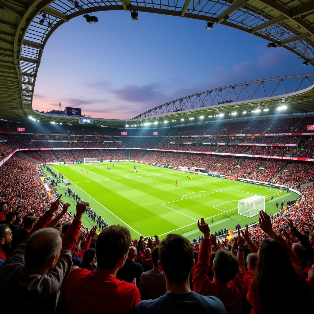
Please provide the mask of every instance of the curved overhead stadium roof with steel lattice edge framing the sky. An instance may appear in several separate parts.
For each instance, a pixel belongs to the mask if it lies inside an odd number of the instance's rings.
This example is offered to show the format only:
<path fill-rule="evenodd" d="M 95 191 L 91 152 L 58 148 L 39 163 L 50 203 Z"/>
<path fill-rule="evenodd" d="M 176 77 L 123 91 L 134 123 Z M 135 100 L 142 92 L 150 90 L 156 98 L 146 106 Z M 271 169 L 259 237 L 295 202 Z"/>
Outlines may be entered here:
<path fill-rule="evenodd" d="M 51 34 L 63 23 L 82 14 L 106 10 L 136 10 L 227 25 L 282 46 L 314 66 L 313 0 L 281 0 L 280 2 L 273 0 L 177 0 L 173 3 L 169 0 L 158 2 L 152 0 L 95 0 L 93 2 L 88 0 L 53 2 L 49 0 L 2 0 L 0 5 L 1 118 L 19 121 L 30 115 L 44 121 L 48 119 L 51 121 L 51 117 L 61 118 L 34 113 L 32 109 L 35 80 L 44 46 Z M 313 86 L 301 93 L 296 92 L 294 95 L 289 94 L 282 98 L 292 101 L 296 111 L 299 110 L 297 109 L 299 106 L 302 110 L 298 112 L 309 111 L 313 104 Z M 236 104 L 222 105 L 224 106 L 221 107 L 230 107 Z M 193 112 L 202 110 L 195 108 L 192 107 L 191 110 Z M 180 114 L 176 112 L 174 115 Z M 140 116 L 136 118 L 142 118 Z M 98 120 L 106 125 L 125 125 L 127 122 L 127 120 Z"/>

